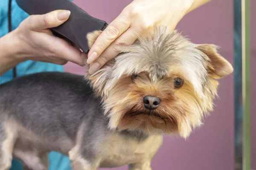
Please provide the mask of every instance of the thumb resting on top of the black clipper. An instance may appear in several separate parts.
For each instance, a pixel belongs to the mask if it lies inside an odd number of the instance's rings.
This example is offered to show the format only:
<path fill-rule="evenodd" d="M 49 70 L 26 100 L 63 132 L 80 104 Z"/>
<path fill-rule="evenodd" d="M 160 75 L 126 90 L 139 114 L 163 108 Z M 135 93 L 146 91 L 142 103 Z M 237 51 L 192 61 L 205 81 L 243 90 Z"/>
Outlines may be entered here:
<path fill-rule="evenodd" d="M 69 16 L 70 11 L 68 10 L 55 10 L 47 14 L 31 15 L 28 25 L 32 30 L 40 31 L 61 25 L 68 20 Z"/>

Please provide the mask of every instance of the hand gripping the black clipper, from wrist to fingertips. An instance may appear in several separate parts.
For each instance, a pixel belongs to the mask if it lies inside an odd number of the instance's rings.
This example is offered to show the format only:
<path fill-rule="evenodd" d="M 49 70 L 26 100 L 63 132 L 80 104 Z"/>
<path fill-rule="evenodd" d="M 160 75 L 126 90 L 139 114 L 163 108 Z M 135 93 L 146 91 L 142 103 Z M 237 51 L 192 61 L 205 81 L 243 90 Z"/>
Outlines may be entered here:
<path fill-rule="evenodd" d="M 56 10 L 42 15 L 31 15 L 14 30 L 19 42 L 18 56 L 24 60 L 66 64 L 68 61 L 84 65 L 87 57 L 67 41 L 56 37 L 49 28 L 61 25 L 70 16 L 70 11 Z"/>

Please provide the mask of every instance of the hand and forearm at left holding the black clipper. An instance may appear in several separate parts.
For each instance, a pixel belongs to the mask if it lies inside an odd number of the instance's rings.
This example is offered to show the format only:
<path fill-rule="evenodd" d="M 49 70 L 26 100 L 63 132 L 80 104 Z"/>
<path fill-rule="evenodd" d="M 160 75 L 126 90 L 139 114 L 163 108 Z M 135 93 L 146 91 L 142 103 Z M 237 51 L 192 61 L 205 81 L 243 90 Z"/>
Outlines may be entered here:
<path fill-rule="evenodd" d="M 70 11 L 66 10 L 30 15 L 14 31 L 1 37 L 0 75 L 26 60 L 84 65 L 86 54 L 49 30 L 67 21 L 69 16 Z"/>

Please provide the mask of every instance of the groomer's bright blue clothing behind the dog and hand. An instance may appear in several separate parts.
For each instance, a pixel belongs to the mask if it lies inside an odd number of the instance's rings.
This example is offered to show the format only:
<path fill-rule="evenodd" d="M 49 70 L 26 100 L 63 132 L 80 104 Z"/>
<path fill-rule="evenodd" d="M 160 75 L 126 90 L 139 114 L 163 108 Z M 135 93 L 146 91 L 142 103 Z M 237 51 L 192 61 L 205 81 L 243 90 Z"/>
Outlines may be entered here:
<path fill-rule="evenodd" d="M 9 0 L 1 0 L 0 3 L 0 37 L 8 34 L 8 3 Z M 12 30 L 17 28 L 17 26 L 19 26 L 20 23 L 28 16 L 29 14 L 27 14 L 17 5 L 16 0 L 12 0 Z M 64 71 L 62 65 L 31 60 L 18 64 L 16 66 L 16 70 L 17 77 L 42 71 Z M 11 69 L 0 76 L 0 84 L 8 82 L 12 79 L 13 72 Z M 67 156 L 57 152 L 51 152 L 49 153 L 48 158 L 49 170 L 71 170 L 70 161 Z M 12 161 L 11 170 L 23 170 L 23 166 L 20 161 L 14 159 Z"/>

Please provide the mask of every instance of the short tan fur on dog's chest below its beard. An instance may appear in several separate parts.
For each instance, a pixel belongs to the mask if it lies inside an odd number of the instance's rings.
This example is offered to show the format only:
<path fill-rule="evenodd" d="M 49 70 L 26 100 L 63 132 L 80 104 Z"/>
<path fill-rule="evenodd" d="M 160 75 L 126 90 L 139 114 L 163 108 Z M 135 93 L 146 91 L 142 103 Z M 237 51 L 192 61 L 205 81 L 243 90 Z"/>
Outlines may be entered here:
<path fill-rule="evenodd" d="M 101 156 L 100 167 L 120 167 L 131 163 L 145 166 L 144 164 L 148 163 L 149 168 L 151 159 L 157 153 L 162 141 L 162 135 L 152 135 L 146 140 L 135 142 L 127 139 L 126 136 L 113 134 L 106 139 L 111 145 L 102 147 L 104 155 Z M 148 168 L 141 170 L 149 170 Z"/>

